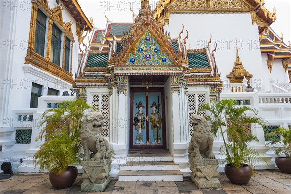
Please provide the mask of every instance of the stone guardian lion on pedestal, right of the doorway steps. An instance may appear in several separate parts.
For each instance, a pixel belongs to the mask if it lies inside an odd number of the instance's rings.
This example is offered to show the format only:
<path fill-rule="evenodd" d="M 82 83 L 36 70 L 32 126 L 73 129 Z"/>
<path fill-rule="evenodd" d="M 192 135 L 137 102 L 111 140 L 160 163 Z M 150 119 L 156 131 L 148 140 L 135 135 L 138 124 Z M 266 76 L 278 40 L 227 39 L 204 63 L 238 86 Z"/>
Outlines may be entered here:
<path fill-rule="evenodd" d="M 199 189 L 221 188 L 218 180 L 218 159 L 213 154 L 213 136 L 210 127 L 200 115 L 193 115 L 190 122 L 194 129 L 188 148 L 191 180 Z"/>

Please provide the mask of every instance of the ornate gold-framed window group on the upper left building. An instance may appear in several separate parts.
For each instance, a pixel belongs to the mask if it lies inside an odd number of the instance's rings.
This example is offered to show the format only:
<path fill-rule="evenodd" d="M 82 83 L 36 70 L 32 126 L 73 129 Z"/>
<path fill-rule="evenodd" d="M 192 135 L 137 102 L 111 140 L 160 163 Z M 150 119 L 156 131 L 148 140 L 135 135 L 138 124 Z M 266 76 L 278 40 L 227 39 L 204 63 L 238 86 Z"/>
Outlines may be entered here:
<path fill-rule="evenodd" d="M 72 78 L 72 21 L 65 24 L 62 5 L 49 8 L 47 0 L 33 0 L 25 63 L 69 83 Z M 46 43 L 46 45 L 45 45 Z"/>

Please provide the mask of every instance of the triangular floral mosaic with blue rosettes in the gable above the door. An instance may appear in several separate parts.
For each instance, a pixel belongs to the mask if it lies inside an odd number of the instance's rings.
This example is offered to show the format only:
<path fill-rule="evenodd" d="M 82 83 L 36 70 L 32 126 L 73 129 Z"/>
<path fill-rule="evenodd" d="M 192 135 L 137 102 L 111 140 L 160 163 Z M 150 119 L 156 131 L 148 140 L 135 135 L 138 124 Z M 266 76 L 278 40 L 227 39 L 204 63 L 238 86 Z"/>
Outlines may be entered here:
<path fill-rule="evenodd" d="M 160 45 L 146 31 L 134 49 L 135 53 L 130 53 L 127 65 L 172 65 L 173 63 L 166 52 L 161 50 Z"/>

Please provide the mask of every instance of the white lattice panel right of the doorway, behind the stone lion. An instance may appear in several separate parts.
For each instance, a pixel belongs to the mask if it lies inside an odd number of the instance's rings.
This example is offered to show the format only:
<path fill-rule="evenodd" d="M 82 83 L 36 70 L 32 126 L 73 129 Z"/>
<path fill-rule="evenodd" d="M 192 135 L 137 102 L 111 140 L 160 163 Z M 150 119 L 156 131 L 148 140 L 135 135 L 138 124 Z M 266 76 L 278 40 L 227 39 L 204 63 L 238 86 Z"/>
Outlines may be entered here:
<path fill-rule="evenodd" d="M 205 100 L 206 100 L 205 94 L 188 94 L 189 121 L 192 115 L 196 113 L 198 108 L 206 102 Z M 205 111 L 201 111 L 199 115 L 204 117 Z M 190 135 L 192 136 L 194 131 L 193 131 L 193 126 L 190 122 L 189 122 L 189 129 L 190 129 Z"/>

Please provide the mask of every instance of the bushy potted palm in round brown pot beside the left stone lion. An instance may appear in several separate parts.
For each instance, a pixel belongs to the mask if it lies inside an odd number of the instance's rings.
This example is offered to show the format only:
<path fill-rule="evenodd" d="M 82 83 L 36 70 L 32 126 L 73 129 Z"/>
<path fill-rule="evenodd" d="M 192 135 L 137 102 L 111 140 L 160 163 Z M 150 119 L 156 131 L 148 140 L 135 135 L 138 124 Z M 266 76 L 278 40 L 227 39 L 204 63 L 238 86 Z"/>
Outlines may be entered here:
<path fill-rule="evenodd" d="M 81 120 L 90 106 L 81 99 L 64 101 L 58 107 L 47 109 L 41 115 L 36 141 L 44 139 L 35 153 L 40 171 L 49 171 L 49 180 L 56 188 L 70 187 L 78 176 L 75 166 L 81 161 Z"/>

